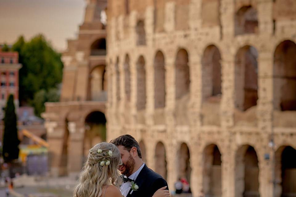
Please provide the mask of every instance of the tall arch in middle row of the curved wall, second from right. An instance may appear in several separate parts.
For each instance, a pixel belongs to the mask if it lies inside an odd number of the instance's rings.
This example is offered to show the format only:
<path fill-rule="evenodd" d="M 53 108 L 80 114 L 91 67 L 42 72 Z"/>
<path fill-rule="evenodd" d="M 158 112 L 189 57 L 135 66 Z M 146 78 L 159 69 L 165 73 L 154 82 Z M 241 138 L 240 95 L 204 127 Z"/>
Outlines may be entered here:
<path fill-rule="evenodd" d="M 242 111 L 257 105 L 258 53 L 253 46 L 241 47 L 235 58 L 235 105 Z"/>

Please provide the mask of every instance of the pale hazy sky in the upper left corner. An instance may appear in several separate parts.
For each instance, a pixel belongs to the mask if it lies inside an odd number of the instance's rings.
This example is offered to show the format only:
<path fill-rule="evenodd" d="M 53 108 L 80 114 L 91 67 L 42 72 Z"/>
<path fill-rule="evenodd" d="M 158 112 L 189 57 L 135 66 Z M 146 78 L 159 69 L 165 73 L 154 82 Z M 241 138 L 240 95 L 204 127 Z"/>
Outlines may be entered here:
<path fill-rule="evenodd" d="M 61 52 L 76 38 L 84 8 L 85 0 L 0 0 L 0 44 L 42 33 Z"/>

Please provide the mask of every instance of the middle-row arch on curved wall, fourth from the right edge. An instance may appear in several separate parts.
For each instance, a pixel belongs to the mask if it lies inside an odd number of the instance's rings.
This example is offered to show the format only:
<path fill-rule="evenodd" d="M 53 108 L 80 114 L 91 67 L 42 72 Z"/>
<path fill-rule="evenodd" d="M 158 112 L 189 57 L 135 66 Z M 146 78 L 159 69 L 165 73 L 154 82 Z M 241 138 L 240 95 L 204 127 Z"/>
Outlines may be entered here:
<path fill-rule="evenodd" d="M 176 99 L 182 98 L 190 90 L 190 70 L 188 65 L 188 53 L 185 49 L 179 49 L 175 60 L 175 89 Z"/>

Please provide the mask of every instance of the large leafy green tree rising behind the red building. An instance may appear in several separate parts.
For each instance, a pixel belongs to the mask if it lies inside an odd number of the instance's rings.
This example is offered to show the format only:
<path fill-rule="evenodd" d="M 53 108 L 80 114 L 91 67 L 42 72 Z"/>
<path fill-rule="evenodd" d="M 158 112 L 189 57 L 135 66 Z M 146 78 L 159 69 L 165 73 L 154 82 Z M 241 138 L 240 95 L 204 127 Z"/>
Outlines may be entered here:
<path fill-rule="evenodd" d="M 19 52 L 19 100 L 21 105 L 33 103 L 40 90 L 46 93 L 62 81 L 63 63 L 61 55 L 52 49 L 43 35 L 37 35 L 29 42 L 20 36 L 12 46 Z M 40 98 L 36 98 L 37 100 Z"/>

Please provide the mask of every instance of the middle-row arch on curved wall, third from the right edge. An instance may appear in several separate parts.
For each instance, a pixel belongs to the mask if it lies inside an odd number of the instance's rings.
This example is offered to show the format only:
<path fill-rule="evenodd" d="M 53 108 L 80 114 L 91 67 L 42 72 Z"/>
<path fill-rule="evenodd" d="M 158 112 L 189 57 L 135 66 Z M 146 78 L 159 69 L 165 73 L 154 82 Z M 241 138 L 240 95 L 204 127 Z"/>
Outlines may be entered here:
<path fill-rule="evenodd" d="M 215 45 L 204 50 L 203 66 L 203 98 L 220 95 L 221 92 L 221 54 Z"/>

